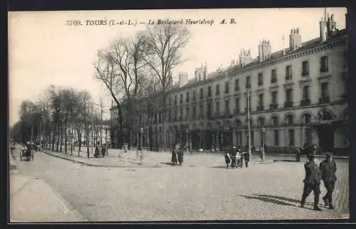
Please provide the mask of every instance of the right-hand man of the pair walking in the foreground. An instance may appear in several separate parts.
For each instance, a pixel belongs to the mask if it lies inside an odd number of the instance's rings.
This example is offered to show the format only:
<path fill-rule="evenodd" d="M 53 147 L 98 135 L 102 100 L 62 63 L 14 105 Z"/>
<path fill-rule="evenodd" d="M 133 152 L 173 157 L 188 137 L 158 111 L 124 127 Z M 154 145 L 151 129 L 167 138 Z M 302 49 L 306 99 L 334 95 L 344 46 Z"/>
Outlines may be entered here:
<path fill-rule="evenodd" d="M 330 209 L 334 209 L 333 206 L 333 191 L 335 188 L 336 182 L 336 163 L 333 160 L 333 156 L 330 153 L 327 153 L 325 156 L 325 160 L 320 162 L 320 173 L 321 179 L 323 179 L 324 186 L 328 192 L 323 197 L 323 201 L 325 206 L 329 206 Z"/>

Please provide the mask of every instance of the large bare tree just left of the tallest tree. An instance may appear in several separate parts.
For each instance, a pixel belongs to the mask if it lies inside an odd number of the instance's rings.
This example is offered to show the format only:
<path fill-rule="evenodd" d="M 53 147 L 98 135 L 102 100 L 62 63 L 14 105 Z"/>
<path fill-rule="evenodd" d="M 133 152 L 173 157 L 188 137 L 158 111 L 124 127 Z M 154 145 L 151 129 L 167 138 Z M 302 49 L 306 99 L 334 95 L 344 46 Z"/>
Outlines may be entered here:
<path fill-rule="evenodd" d="M 145 73 L 144 50 L 145 39 L 141 33 L 137 33 L 134 38 L 116 38 L 107 50 L 98 53 L 98 60 L 95 63 L 97 78 L 105 83 L 115 102 L 117 103 L 118 98 L 125 100 L 129 138 L 132 136 L 132 115 L 136 113 L 133 104 L 137 101 L 137 92 Z M 115 93 L 112 92 L 113 84 L 117 90 L 124 92 L 119 97 L 114 96 Z M 122 110 L 121 106 L 117 107 L 122 132 Z M 129 140 L 129 147 L 130 142 Z"/>

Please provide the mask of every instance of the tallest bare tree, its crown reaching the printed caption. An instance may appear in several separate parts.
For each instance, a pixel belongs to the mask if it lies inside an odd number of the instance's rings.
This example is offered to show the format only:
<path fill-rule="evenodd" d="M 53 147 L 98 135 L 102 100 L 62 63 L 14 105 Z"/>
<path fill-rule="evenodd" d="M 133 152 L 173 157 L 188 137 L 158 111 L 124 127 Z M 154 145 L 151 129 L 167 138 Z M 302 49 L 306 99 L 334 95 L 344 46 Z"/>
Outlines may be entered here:
<path fill-rule="evenodd" d="M 189 30 L 182 25 L 155 25 L 147 27 L 145 31 L 145 63 L 150 66 L 161 84 L 162 96 L 162 132 L 163 144 L 166 147 L 166 91 L 169 85 L 169 74 L 171 71 L 183 63 L 182 50 L 189 42 Z"/>

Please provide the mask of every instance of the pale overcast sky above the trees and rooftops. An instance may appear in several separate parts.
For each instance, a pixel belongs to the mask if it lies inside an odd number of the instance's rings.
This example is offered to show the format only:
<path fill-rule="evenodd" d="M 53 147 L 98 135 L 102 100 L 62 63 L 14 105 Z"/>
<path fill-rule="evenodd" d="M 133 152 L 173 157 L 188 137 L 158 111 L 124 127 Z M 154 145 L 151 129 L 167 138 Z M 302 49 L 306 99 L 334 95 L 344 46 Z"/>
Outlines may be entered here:
<path fill-rule="evenodd" d="M 345 28 L 345 8 L 328 8 L 335 15 L 336 26 Z M 323 8 L 308 9 L 189 9 L 142 11 L 31 11 L 9 12 L 9 124 L 19 119 L 23 100 L 36 101 L 48 85 L 88 90 L 96 101 L 108 93 L 93 77 L 93 62 L 98 49 L 108 46 L 115 36 L 132 36 L 145 28 L 137 26 L 85 26 L 85 20 L 130 19 L 148 21 L 164 18 L 214 20 L 214 24 L 190 25 L 191 41 L 184 50 L 189 61 L 173 71 L 187 72 L 207 63 L 208 71 L 231 60 L 237 60 L 241 48 L 251 48 L 252 58 L 258 55 L 258 42 L 270 40 L 272 52 L 289 45 L 291 28 L 299 28 L 302 41 L 319 36 Z M 226 18 L 226 24 L 220 22 Z M 237 23 L 230 24 L 230 18 Z M 83 26 L 66 26 L 67 20 L 81 20 Z M 107 102 L 107 107 L 110 102 Z"/>

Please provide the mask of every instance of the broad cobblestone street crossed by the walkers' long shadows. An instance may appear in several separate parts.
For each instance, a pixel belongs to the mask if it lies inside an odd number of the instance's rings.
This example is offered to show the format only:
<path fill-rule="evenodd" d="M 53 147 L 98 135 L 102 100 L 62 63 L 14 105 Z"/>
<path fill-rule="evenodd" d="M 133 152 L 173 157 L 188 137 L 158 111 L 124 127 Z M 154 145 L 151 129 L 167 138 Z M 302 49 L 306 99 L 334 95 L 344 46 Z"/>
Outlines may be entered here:
<path fill-rule="evenodd" d="M 135 156 L 135 151 L 126 155 Z M 313 211 L 313 193 L 305 208 L 299 207 L 303 159 L 266 164 L 255 159 L 248 168 L 226 169 L 221 155 L 187 154 L 183 166 L 170 166 L 168 153 L 144 156 L 143 164 L 152 167 L 85 166 L 41 152 L 35 154 L 34 161 L 16 161 L 20 173 L 43 179 L 93 221 L 348 218 L 345 159 L 337 160 L 335 210 L 325 208 L 320 198 L 323 211 L 318 212 Z M 106 160 L 116 160 L 114 157 L 111 151 Z M 320 189 L 321 196 L 325 195 L 323 183 Z"/>

